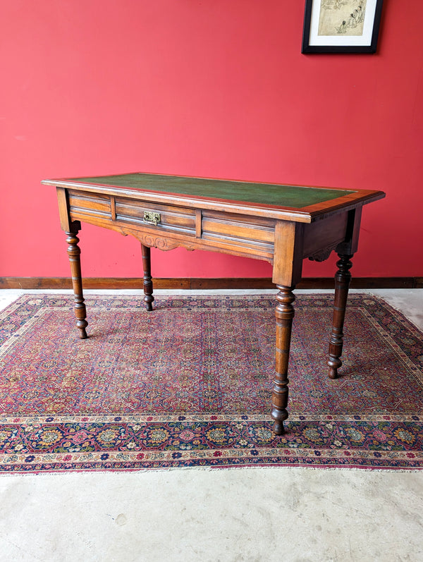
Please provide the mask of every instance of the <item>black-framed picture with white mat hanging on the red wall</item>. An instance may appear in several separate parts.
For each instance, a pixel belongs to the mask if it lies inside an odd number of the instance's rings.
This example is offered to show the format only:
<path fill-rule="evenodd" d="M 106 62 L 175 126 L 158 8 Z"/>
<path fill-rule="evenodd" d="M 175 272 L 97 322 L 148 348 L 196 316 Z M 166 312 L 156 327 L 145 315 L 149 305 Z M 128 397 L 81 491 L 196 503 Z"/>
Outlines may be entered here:
<path fill-rule="evenodd" d="M 374 53 L 383 0 L 305 0 L 302 53 Z"/>

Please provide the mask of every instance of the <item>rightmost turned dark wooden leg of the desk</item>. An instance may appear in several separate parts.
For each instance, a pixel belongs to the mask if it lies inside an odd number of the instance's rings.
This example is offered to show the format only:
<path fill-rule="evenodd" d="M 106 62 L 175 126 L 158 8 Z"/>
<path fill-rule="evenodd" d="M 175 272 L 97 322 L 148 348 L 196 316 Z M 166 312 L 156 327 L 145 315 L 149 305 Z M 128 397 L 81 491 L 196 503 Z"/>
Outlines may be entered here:
<path fill-rule="evenodd" d="M 333 306 L 333 328 L 329 342 L 329 377 L 336 379 L 338 369 L 342 365 L 341 355 L 343 347 L 343 323 L 345 319 L 345 308 L 347 306 L 348 288 L 350 287 L 350 269 L 353 264 L 350 258 L 353 255 L 338 254 L 339 261 L 336 262 L 338 271 L 335 275 L 335 303 Z"/>

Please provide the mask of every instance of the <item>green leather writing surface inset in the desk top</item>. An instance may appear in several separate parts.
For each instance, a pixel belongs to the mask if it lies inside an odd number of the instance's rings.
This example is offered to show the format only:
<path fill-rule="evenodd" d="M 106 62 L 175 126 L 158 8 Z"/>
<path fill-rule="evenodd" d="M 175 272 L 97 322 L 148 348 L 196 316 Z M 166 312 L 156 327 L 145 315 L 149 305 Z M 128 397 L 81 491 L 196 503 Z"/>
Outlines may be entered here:
<path fill-rule="evenodd" d="M 91 178 L 66 178 L 63 182 L 110 185 L 140 191 L 173 193 L 192 197 L 240 201 L 302 209 L 309 205 L 330 201 L 355 193 L 354 190 L 307 188 L 296 185 L 250 183 L 243 181 L 214 180 L 163 176 L 151 173 L 124 173 L 118 176 Z"/>

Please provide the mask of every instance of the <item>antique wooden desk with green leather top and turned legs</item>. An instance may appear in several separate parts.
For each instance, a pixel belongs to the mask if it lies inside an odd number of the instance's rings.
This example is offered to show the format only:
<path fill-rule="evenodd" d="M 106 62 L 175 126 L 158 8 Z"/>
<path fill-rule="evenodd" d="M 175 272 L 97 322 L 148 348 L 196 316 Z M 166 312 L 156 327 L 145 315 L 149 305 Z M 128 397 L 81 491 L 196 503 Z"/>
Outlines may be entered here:
<path fill-rule="evenodd" d="M 350 284 L 350 258 L 357 250 L 362 206 L 381 191 L 313 188 L 147 173 L 45 180 L 59 200 L 61 228 L 68 235 L 75 316 L 80 338 L 87 327 L 78 232 L 80 221 L 140 240 L 144 293 L 152 310 L 150 248 L 212 250 L 266 259 L 273 265 L 276 295 L 276 374 L 271 400 L 274 432 L 288 417 L 288 360 L 294 317 L 293 290 L 302 260 L 322 261 L 338 252 L 329 377 L 341 367 L 343 322 Z"/>

